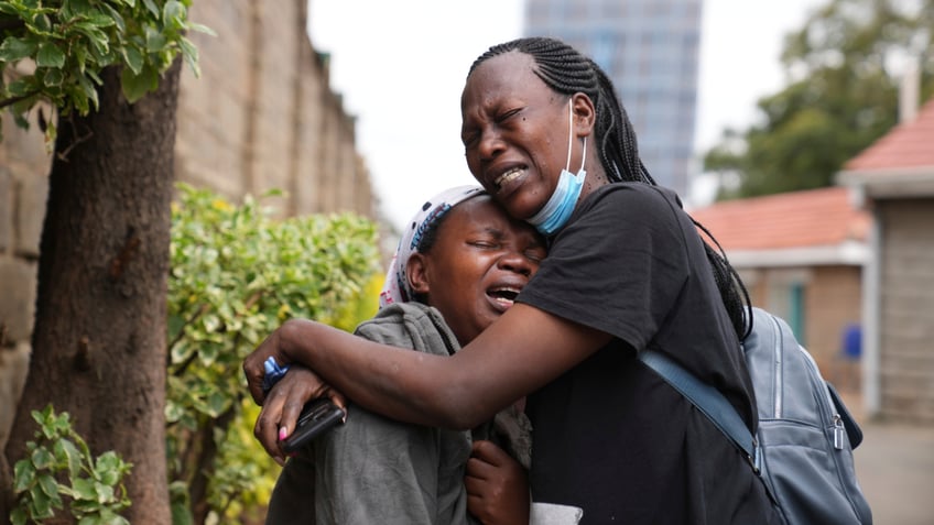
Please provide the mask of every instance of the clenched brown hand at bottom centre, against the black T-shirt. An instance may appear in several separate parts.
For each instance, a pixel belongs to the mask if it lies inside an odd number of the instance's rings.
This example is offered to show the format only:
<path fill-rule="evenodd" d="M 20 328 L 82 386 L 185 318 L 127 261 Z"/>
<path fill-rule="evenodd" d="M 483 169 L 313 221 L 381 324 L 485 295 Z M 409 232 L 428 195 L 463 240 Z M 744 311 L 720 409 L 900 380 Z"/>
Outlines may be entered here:
<path fill-rule="evenodd" d="M 484 525 L 529 523 L 525 469 L 492 441 L 475 441 L 467 460 L 467 510 Z"/>

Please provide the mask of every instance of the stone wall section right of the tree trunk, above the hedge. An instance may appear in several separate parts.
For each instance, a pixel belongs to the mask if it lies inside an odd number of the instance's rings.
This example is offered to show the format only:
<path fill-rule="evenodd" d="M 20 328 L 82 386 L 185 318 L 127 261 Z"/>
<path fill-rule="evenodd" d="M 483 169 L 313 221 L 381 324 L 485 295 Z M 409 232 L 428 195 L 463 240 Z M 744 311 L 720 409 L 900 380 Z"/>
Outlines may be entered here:
<path fill-rule="evenodd" d="M 376 218 L 356 123 L 306 35 L 305 0 L 200 0 L 192 33 L 202 77 L 184 69 L 177 177 L 230 197 L 287 192 L 282 215 L 350 210 Z"/>

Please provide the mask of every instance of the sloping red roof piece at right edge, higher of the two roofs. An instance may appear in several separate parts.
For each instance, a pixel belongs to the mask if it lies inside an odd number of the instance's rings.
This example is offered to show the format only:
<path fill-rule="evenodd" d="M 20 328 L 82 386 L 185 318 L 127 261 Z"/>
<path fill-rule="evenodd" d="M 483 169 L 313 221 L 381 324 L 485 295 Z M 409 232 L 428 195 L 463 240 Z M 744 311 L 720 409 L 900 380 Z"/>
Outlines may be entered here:
<path fill-rule="evenodd" d="M 844 165 L 846 171 L 934 167 L 934 99 Z"/>

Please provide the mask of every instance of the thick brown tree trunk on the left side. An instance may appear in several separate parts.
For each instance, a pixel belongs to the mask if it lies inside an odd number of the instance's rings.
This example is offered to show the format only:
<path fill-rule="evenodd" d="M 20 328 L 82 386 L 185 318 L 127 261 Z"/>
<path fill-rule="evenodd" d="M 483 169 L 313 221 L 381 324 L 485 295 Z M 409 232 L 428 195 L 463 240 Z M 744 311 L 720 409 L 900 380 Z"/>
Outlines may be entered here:
<path fill-rule="evenodd" d="M 33 351 L 7 445 L 24 456 L 31 411 L 67 411 L 95 456 L 133 463 L 130 523 L 172 523 L 165 468 L 165 311 L 181 61 L 129 105 L 120 72 L 100 109 L 61 118 L 39 260 Z"/>

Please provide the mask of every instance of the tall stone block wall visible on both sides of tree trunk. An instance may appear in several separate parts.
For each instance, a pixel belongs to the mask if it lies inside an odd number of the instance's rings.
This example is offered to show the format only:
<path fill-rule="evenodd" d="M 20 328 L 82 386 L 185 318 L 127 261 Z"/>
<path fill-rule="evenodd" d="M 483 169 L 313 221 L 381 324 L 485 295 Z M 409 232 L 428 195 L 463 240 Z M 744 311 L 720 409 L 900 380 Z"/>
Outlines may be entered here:
<path fill-rule="evenodd" d="M 284 190 L 270 203 L 281 216 L 349 210 L 376 219 L 355 119 L 329 87 L 328 56 L 306 33 L 307 0 L 198 0 L 189 14 L 217 36 L 189 34 L 202 75 L 187 66 L 182 74 L 176 178 L 235 201 Z M 2 125 L 0 450 L 29 367 L 51 165 L 35 125 L 18 130 L 6 113 Z"/>

